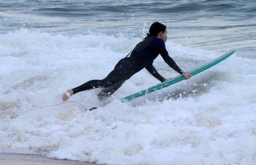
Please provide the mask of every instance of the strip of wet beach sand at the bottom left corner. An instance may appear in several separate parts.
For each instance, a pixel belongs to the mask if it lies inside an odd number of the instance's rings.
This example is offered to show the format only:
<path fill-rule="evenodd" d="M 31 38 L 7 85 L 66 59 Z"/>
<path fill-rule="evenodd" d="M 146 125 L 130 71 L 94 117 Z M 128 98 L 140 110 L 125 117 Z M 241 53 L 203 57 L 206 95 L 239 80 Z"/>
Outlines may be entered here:
<path fill-rule="evenodd" d="M 42 155 L 3 154 L 0 153 L 1 165 L 97 165 L 95 163 L 73 160 L 49 159 Z"/>

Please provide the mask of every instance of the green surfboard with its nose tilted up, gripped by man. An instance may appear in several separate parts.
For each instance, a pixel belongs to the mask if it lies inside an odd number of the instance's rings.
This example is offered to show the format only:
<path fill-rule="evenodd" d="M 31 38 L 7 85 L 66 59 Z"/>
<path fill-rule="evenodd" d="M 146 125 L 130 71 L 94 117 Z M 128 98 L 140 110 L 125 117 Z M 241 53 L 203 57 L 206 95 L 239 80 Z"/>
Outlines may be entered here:
<path fill-rule="evenodd" d="M 233 53 L 235 53 L 235 51 L 236 50 L 232 50 L 232 51 L 229 51 L 229 52 L 225 53 L 224 55 L 221 55 L 220 57 L 214 59 L 213 61 L 211 61 L 211 62 L 209 62 L 209 63 L 207 63 L 207 64 L 205 64 L 205 65 L 203 65 L 203 66 L 201 66 L 201 67 L 199 67 L 199 68 L 197 68 L 195 70 L 193 70 L 193 71 L 190 71 L 190 74 L 192 76 L 194 76 L 196 74 L 199 74 L 200 72 L 203 72 L 203 71 L 207 70 L 208 68 L 211 68 L 212 66 L 218 64 L 219 62 L 221 62 L 221 61 L 225 60 L 226 58 L 228 58 L 229 56 L 231 56 Z M 165 81 L 163 83 L 159 83 L 159 84 L 151 86 L 151 87 L 149 87 L 147 89 L 141 90 L 141 91 L 139 91 L 137 93 L 134 93 L 134 94 L 131 94 L 131 95 L 126 96 L 124 98 L 121 98 L 120 100 L 125 102 L 127 100 L 131 100 L 131 99 L 143 96 L 145 94 L 151 93 L 153 91 L 162 89 L 164 87 L 170 86 L 170 85 L 172 85 L 174 83 L 178 83 L 178 82 L 180 82 L 182 80 L 185 80 L 185 77 L 180 75 L 180 76 L 172 78 L 172 79 L 170 79 L 168 81 Z"/>

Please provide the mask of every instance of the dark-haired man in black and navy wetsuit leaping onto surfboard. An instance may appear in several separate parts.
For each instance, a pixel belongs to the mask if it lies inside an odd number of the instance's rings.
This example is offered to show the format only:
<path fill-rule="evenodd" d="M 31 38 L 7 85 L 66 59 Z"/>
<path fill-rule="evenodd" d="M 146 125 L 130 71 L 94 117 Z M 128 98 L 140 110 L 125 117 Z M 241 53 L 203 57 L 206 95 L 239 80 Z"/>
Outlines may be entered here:
<path fill-rule="evenodd" d="M 99 99 L 109 97 L 112 95 L 126 80 L 131 76 L 146 68 L 149 73 L 161 82 L 166 81 L 154 68 L 153 61 L 160 54 L 164 61 L 179 74 L 186 79 L 191 78 L 189 72 L 183 72 L 173 59 L 168 55 L 165 49 L 165 42 L 167 40 L 166 26 L 154 22 L 150 29 L 149 34 L 132 50 L 130 57 L 121 59 L 114 70 L 102 80 L 91 80 L 73 89 L 68 89 L 62 94 L 62 100 L 67 99 L 77 92 L 89 90 L 92 88 L 102 87 L 102 91 L 97 95 Z"/>

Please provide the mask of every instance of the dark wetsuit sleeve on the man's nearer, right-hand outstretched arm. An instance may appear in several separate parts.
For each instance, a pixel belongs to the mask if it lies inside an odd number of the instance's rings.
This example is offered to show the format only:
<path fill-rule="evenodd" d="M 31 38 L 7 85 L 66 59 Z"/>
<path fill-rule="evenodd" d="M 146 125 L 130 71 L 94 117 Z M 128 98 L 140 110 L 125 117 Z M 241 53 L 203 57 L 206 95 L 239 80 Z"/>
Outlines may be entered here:
<path fill-rule="evenodd" d="M 175 61 L 168 55 L 167 50 L 165 49 L 165 45 L 160 46 L 160 55 L 164 59 L 164 61 L 176 72 L 182 74 L 183 71 L 178 67 Z"/>

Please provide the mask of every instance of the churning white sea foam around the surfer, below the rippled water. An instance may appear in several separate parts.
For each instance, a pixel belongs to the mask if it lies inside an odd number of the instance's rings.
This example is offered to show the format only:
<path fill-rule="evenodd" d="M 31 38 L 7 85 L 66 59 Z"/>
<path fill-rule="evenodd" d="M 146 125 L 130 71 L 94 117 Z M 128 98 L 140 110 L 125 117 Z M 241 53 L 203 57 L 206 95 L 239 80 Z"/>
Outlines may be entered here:
<path fill-rule="evenodd" d="M 27 29 L 0 34 L 0 152 L 109 165 L 255 163 L 256 61 L 236 53 L 190 80 L 137 99 L 140 104 L 116 98 L 159 83 L 146 70 L 94 111 L 66 103 L 17 117 L 27 109 L 61 103 L 67 88 L 104 78 L 140 40 Z M 225 53 L 171 41 L 166 47 L 184 70 Z M 154 65 L 166 78 L 178 75 L 160 56 Z M 70 100 L 86 108 L 99 105 L 98 91 Z"/>

